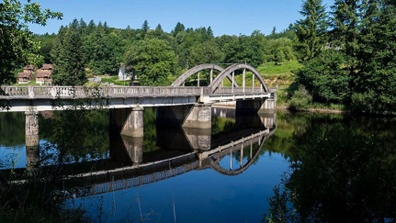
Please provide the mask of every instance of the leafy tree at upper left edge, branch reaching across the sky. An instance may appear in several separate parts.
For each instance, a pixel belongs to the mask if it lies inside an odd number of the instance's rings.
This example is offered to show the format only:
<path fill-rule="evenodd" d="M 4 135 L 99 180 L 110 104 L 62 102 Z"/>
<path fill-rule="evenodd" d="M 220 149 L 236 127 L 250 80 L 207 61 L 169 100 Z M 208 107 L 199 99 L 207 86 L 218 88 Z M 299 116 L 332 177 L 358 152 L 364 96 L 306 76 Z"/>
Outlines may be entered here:
<path fill-rule="evenodd" d="M 42 10 L 37 2 L 18 0 L 0 3 L 0 85 L 15 81 L 14 71 L 38 58 L 39 45 L 33 40 L 28 24 L 45 26 L 48 19 L 60 19 L 62 13 Z"/>

